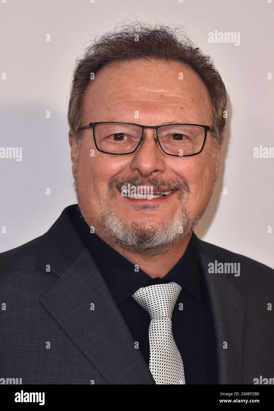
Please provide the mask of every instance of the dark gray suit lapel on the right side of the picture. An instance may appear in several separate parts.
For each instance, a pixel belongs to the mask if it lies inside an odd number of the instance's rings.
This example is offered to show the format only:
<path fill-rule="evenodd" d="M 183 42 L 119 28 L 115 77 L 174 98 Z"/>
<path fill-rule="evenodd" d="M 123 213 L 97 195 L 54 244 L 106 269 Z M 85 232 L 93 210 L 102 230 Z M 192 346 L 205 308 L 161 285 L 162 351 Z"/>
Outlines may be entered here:
<path fill-rule="evenodd" d="M 219 384 L 241 384 L 245 300 L 231 284 L 233 274 L 210 274 L 208 264 L 216 256 L 197 238 L 198 259 L 208 288 L 215 323 Z M 221 262 L 221 261 L 218 261 Z M 225 261 L 227 262 L 227 261 Z M 224 348 L 225 342 L 227 348 Z"/>

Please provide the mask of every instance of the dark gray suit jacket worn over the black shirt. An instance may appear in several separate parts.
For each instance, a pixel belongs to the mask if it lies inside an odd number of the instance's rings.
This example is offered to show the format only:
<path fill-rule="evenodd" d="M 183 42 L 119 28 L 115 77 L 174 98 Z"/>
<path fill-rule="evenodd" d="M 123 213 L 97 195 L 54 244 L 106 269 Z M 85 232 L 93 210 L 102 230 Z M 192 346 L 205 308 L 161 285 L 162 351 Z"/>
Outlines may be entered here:
<path fill-rule="evenodd" d="M 0 379 L 155 384 L 70 207 L 43 236 L 0 254 Z M 274 270 L 198 238 L 197 245 L 215 321 L 219 383 L 274 377 L 274 314 L 267 309 Z M 209 273 L 215 260 L 240 263 L 240 276 Z"/>

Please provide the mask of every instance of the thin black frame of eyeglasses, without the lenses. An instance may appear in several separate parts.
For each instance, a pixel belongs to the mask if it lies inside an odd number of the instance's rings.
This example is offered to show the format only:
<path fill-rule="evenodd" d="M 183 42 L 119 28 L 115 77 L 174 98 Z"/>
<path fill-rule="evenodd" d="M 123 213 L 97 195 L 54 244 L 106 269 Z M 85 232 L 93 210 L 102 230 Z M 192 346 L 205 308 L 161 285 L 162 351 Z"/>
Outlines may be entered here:
<path fill-rule="evenodd" d="M 98 146 L 97 146 L 97 144 L 96 144 L 96 139 L 95 139 L 95 126 L 98 125 L 98 124 L 128 124 L 128 125 L 132 125 L 132 126 L 139 126 L 139 127 L 142 128 L 142 135 L 141 135 L 141 138 L 140 138 L 139 143 L 137 144 L 136 148 L 135 148 L 133 151 L 130 151 L 130 152 L 128 152 L 128 153 L 110 153 L 110 152 L 108 152 L 108 151 L 100 150 L 100 148 L 98 148 Z M 205 130 L 205 137 L 204 137 L 204 139 L 203 139 L 203 145 L 202 145 L 201 150 L 198 151 L 197 153 L 187 154 L 187 155 L 184 155 L 184 156 L 180 156 L 180 155 L 178 155 L 178 154 L 170 154 L 170 153 L 165 152 L 164 149 L 163 149 L 162 146 L 161 146 L 161 143 L 160 143 L 159 139 L 158 139 L 158 130 L 159 130 L 161 127 L 167 127 L 167 126 L 199 126 L 199 127 L 202 127 L 202 128 Z M 137 150 L 137 148 L 139 147 L 141 141 L 143 141 L 144 129 L 150 128 L 150 129 L 155 129 L 155 130 L 156 130 L 157 139 L 156 139 L 155 141 L 156 141 L 156 143 L 157 143 L 157 142 L 159 143 L 160 148 L 162 149 L 162 151 L 163 151 L 165 154 L 167 154 L 167 155 L 172 155 L 172 156 L 175 156 L 175 157 L 190 157 L 190 156 L 192 156 L 192 155 L 200 154 L 200 152 L 203 150 L 203 147 L 204 147 L 204 145 L 205 145 L 206 133 L 207 133 L 208 130 L 210 130 L 210 126 L 204 126 L 204 125 L 201 125 L 201 124 L 176 123 L 176 124 L 165 124 L 165 125 L 160 125 L 160 126 L 144 126 L 144 125 L 142 125 L 142 124 L 128 123 L 128 122 L 123 122 L 123 121 L 98 121 L 98 122 L 93 122 L 93 123 L 89 123 L 88 125 L 82 127 L 82 130 L 87 129 L 87 128 L 89 128 L 89 127 L 92 127 L 94 144 L 95 144 L 95 147 L 97 148 L 97 150 L 100 151 L 100 152 L 103 152 L 103 153 L 106 153 L 106 154 L 114 154 L 114 155 L 132 154 L 132 153 L 134 153 L 134 152 Z"/>

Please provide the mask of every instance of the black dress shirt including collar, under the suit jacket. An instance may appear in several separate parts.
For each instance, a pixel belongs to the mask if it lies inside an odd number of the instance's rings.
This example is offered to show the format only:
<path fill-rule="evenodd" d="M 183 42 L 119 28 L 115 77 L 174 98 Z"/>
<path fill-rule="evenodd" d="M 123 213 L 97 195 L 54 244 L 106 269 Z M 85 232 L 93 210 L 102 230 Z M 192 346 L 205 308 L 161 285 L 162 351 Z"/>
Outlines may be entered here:
<path fill-rule="evenodd" d="M 140 287 L 174 281 L 182 287 L 172 314 L 172 333 L 180 351 L 186 384 L 217 384 L 215 330 L 203 276 L 199 272 L 196 241 L 192 234 L 185 254 L 163 277 L 151 278 L 91 234 L 77 207 L 71 219 L 94 257 L 110 292 L 149 365 L 150 316 L 131 296 Z M 183 304 L 183 306 L 182 306 Z M 179 309 L 183 307 L 183 309 Z"/>

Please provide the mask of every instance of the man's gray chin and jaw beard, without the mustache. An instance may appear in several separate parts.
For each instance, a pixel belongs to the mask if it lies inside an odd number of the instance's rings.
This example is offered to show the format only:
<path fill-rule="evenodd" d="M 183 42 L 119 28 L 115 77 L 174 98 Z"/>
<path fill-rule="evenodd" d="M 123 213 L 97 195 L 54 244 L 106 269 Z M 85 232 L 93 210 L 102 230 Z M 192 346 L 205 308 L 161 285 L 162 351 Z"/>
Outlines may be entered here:
<path fill-rule="evenodd" d="M 77 195 L 76 185 L 75 191 Z M 187 193 L 185 193 L 187 196 Z M 182 196 L 181 196 L 182 197 Z M 78 199 L 78 196 L 77 196 Z M 189 212 L 185 201 L 181 198 L 180 212 L 169 222 L 159 222 L 158 224 L 147 219 L 142 222 L 126 223 L 120 215 L 112 211 L 110 205 L 104 205 L 97 217 L 91 217 L 78 200 L 78 210 L 82 213 L 84 220 L 89 227 L 94 227 L 95 233 L 103 238 L 110 245 L 118 245 L 125 251 L 135 254 L 153 256 L 163 254 L 181 241 L 185 240 L 198 224 L 208 206 L 199 216 L 193 216 Z M 157 208 L 154 205 L 135 205 L 137 211 Z"/>

